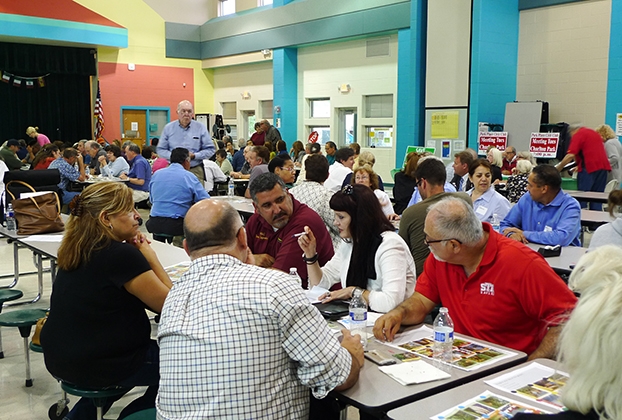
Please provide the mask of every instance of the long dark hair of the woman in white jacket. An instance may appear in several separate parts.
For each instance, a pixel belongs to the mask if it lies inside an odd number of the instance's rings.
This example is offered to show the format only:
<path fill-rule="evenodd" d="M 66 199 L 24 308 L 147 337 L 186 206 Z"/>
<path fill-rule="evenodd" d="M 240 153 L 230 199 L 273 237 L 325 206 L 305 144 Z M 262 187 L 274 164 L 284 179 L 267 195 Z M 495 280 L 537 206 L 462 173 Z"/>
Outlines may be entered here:
<path fill-rule="evenodd" d="M 346 286 L 367 289 L 367 279 L 376 279 L 374 260 L 382 243 L 381 234 L 395 228 L 382 212 L 374 192 L 365 185 L 346 185 L 330 199 L 330 208 L 350 215 L 352 257 Z"/>

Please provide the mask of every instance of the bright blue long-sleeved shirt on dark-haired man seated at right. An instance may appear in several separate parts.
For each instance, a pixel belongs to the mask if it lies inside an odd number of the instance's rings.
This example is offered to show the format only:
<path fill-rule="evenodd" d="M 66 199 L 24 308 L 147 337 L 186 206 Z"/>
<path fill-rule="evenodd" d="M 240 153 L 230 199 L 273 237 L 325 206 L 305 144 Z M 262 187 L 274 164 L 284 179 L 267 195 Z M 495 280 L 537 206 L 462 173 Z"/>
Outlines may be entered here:
<path fill-rule="evenodd" d="M 501 221 L 501 232 L 509 227 L 521 229 L 529 242 L 581 246 L 581 207 L 562 190 L 547 205 L 533 201 L 527 193 Z"/>

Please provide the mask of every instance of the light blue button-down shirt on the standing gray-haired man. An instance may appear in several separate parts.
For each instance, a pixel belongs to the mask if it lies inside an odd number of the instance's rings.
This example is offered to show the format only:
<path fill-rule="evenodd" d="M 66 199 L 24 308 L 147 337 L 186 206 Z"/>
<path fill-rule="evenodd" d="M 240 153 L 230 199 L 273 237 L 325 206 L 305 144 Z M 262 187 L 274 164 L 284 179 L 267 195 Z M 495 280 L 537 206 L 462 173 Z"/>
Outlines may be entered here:
<path fill-rule="evenodd" d="M 194 159 L 190 161 L 191 167 L 202 165 L 203 159 L 209 159 L 216 153 L 207 128 L 195 120 L 190 121 L 186 128 L 179 124 L 179 120 L 166 124 L 158 143 L 158 156 L 170 161 L 171 151 L 176 147 L 183 147 L 194 153 Z"/>

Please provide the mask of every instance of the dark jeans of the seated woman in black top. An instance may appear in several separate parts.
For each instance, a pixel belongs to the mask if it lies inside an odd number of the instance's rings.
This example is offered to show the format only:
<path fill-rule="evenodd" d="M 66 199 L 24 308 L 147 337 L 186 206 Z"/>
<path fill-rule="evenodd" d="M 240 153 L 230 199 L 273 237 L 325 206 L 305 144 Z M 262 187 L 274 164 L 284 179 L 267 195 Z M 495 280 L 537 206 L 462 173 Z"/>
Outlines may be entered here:
<path fill-rule="evenodd" d="M 137 411 L 146 410 L 155 407 L 155 399 L 158 394 L 158 383 L 160 382 L 160 348 L 158 343 L 151 340 L 147 354 L 145 355 L 145 361 L 138 372 L 134 373 L 129 378 L 126 378 L 117 386 L 148 386 L 147 391 L 142 397 L 139 397 L 132 401 L 127 407 L 119 414 L 119 419 L 123 419 L 130 414 Z M 110 397 L 106 400 L 106 405 L 103 407 L 103 412 L 110 409 L 112 404 L 119 400 L 123 395 L 117 395 Z M 71 411 L 67 414 L 65 419 L 67 420 L 92 420 L 97 416 L 97 409 L 93 404 L 93 401 L 88 398 L 80 398 L 80 400 L 73 406 Z"/>

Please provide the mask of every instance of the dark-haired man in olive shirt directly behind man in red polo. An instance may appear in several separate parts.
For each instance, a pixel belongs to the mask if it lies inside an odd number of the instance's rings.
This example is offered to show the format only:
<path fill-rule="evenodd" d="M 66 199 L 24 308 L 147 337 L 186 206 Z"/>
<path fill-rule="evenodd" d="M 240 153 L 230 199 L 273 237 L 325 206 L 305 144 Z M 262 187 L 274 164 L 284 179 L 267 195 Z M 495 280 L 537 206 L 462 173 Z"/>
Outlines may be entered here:
<path fill-rule="evenodd" d="M 430 254 L 428 246 L 423 241 L 425 239 L 423 223 L 428 214 L 428 208 L 446 197 L 459 197 L 471 203 L 466 193 L 445 192 L 446 177 L 445 165 L 441 160 L 434 156 L 422 158 L 415 170 L 417 190 L 422 201 L 408 207 L 402 213 L 399 234 L 410 248 L 410 253 L 415 260 L 417 276 L 423 272 L 423 263 Z"/>

